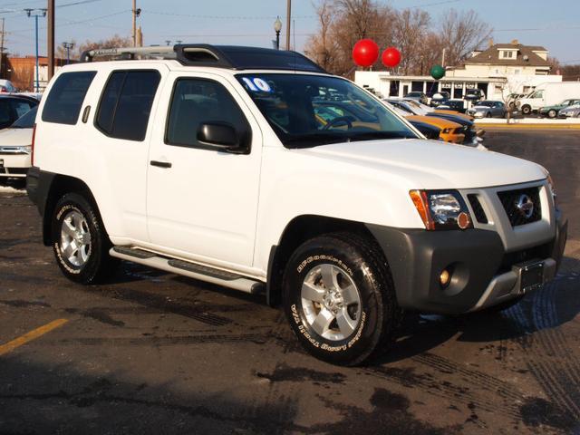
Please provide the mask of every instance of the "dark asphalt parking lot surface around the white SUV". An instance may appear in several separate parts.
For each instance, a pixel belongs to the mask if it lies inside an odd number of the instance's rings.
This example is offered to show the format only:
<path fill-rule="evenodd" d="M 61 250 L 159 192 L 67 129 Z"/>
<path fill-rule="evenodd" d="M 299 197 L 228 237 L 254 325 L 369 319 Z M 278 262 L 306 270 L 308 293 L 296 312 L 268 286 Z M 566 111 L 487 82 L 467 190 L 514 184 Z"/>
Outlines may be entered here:
<path fill-rule="evenodd" d="M 560 274 L 503 314 L 409 314 L 360 368 L 306 355 L 258 296 L 130 264 L 74 285 L 0 193 L 0 433 L 580 434 L 580 131 L 485 144 L 552 172 Z"/>

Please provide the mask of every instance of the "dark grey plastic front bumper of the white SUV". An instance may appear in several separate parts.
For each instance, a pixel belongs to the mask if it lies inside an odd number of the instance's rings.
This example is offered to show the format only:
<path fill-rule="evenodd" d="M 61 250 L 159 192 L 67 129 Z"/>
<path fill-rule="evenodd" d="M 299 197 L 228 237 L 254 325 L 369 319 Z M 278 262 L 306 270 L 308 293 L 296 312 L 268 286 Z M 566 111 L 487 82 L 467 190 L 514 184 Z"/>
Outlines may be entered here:
<path fill-rule="evenodd" d="M 556 275 L 564 253 L 567 221 L 556 220 L 556 236 L 545 244 L 507 253 L 495 231 L 485 229 L 426 231 L 367 225 L 391 268 L 402 308 L 428 313 L 461 314 L 500 304 L 520 295 L 517 267 L 544 261 L 543 282 Z M 452 270 L 446 288 L 443 269 Z"/>

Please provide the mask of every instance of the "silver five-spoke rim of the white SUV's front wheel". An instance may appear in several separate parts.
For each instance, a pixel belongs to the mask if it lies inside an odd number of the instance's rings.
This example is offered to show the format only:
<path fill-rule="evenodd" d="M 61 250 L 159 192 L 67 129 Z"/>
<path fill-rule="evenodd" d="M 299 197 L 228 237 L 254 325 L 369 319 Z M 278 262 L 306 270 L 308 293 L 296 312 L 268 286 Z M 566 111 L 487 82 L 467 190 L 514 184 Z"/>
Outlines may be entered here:
<path fill-rule="evenodd" d="M 327 340 L 340 341 L 356 330 L 361 316 L 361 295 L 353 278 L 332 264 L 314 266 L 302 284 L 306 322 Z"/>

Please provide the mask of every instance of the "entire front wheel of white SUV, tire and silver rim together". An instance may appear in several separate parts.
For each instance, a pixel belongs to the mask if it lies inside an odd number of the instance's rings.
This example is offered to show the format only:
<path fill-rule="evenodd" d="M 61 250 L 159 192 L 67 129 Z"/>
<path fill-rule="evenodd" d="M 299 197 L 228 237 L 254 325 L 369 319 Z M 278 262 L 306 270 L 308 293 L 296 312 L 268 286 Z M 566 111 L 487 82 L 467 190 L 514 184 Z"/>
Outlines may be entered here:
<path fill-rule="evenodd" d="M 285 269 L 285 313 L 306 351 L 355 365 L 384 349 L 401 319 L 389 267 L 372 239 L 314 237 Z"/>

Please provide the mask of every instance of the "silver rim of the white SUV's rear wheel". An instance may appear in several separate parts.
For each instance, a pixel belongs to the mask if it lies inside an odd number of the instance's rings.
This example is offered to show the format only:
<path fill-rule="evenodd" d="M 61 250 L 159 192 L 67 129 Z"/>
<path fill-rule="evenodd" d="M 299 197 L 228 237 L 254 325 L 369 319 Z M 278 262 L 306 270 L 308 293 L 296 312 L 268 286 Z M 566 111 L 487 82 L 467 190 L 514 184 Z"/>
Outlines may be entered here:
<path fill-rule="evenodd" d="M 91 232 L 86 219 L 76 210 L 63 218 L 60 250 L 63 258 L 77 267 L 84 266 L 91 256 Z"/>

